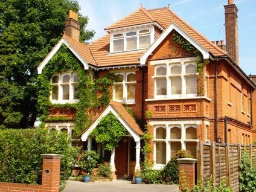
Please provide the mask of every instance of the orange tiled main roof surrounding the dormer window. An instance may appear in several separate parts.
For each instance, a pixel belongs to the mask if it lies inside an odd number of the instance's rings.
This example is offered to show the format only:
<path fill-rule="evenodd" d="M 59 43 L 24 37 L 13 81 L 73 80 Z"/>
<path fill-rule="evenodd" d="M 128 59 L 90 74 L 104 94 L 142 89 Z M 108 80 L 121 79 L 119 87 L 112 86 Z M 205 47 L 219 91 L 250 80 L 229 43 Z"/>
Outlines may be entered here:
<path fill-rule="evenodd" d="M 194 30 L 183 19 L 173 13 L 169 8 L 156 8 L 146 10 L 141 7 L 125 18 L 110 25 L 106 29 L 128 27 L 131 25 L 147 24 L 151 22 L 158 23 L 162 28 L 167 28 L 172 22 L 177 24 L 188 36 L 192 37 L 203 48 L 209 51 L 213 56 L 223 56 L 226 52 L 216 46 L 210 40 L 206 39 L 202 34 Z M 110 34 L 106 34 L 98 40 L 95 40 L 89 45 L 72 40 L 65 36 L 71 46 L 85 59 L 89 64 L 104 67 L 104 66 L 118 66 L 118 65 L 136 65 L 139 64 L 139 58 L 145 52 L 141 51 L 127 51 L 124 53 L 109 53 Z"/>

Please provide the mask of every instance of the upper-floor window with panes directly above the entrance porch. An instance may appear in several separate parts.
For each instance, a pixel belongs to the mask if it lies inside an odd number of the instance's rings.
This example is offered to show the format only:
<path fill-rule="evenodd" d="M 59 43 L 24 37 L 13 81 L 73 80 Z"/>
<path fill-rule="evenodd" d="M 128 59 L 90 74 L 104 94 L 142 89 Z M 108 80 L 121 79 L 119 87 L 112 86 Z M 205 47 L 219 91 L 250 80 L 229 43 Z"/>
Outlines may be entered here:
<path fill-rule="evenodd" d="M 115 73 L 113 100 L 135 103 L 135 72 Z"/>

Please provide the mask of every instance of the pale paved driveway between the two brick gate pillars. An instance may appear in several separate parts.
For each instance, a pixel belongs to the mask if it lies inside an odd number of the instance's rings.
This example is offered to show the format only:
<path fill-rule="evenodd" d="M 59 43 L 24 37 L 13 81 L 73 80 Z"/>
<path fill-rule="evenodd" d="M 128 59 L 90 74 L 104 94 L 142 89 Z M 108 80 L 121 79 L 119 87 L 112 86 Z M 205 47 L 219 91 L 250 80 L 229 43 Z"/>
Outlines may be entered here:
<path fill-rule="evenodd" d="M 162 185 L 162 184 L 131 184 L 130 181 L 118 180 L 112 182 L 80 182 L 80 181 L 68 181 L 65 190 L 63 192 L 98 192 L 98 191 L 106 191 L 106 192 L 178 192 L 179 187 L 176 185 Z"/>

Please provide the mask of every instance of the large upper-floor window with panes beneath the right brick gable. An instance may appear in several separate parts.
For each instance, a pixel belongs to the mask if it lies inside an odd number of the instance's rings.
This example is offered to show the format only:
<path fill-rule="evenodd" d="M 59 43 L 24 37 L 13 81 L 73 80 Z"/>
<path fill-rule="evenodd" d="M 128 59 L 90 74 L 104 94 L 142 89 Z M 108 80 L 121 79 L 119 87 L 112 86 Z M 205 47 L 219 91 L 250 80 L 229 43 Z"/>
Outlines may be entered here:
<path fill-rule="evenodd" d="M 193 61 L 159 60 L 150 65 L 155 65 L 155 98 L 197 96 L 196 63 Z"/>

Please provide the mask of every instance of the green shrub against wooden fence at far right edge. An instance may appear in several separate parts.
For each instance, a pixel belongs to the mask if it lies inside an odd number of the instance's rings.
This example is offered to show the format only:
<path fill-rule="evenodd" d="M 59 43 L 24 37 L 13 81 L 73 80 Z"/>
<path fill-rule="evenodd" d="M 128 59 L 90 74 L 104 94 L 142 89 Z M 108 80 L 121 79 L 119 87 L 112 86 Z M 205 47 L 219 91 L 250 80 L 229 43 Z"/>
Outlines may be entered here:
<path fill-rule="evenodd" d="M 256 191 L 256 168 L 252 166 L 251 158 L 246 152 L 242 155 L 240 168 L 240 191 Z"/>

